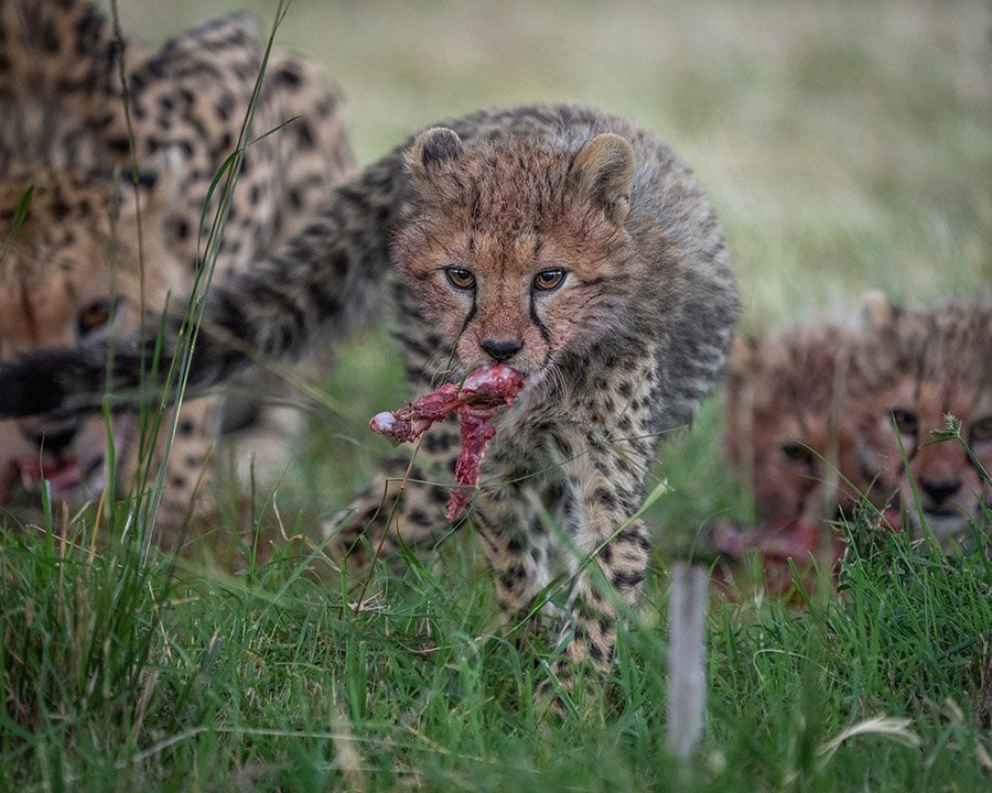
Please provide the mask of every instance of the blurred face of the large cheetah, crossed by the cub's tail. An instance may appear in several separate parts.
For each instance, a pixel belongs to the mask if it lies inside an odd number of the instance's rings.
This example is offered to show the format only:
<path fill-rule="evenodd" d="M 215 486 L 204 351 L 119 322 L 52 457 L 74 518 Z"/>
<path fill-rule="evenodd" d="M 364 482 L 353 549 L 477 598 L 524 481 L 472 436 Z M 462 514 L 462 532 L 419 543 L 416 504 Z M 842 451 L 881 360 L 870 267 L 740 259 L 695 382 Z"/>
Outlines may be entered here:
<path fill-rule="evenodd" d="M 32 183 L 24 222 L 9 239 Z M 145 200 L 143 208 L 145 257 L 160 262 L 169 252 L 152 233 L 154 207 Z M 0 233 L 9 239 L 0 260 L 0 361 L 137 329 L 137 211 L 115 181 L 64 171 L 9 175 L 0 182 Z M 144 284 L 151 300 L 169 287 L 153 270 Z M 114 416 L 118 456 L 134 425 L 132 417 Z M 100 415 L 0 422 L 0 502 L 19 484 L 40 490 L 42 479 L 55 500 L 80 506 L 95 498 L 106 485 L 107 442 Z"/>

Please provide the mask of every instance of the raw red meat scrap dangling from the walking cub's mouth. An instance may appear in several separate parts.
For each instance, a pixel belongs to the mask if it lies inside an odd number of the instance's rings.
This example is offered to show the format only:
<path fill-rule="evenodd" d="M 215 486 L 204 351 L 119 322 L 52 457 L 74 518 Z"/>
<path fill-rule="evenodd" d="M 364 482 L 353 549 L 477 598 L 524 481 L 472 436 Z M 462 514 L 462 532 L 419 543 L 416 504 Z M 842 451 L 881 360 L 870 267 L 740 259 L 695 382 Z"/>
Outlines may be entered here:
<path fill-rule="evenodd" d="M 513 404 L 524 388 L 524 376 L 503 363 L 481 366 L 462 383 L 444 383 L 436 391 L 424 394 L 399 410 L 377 413 L 369 426 L 393 444 L 416 441 L 434 422 L 457 412 L 462 427 L 462 450 L 455 465 L 455 481 L 451 489 L 445 517 L 453 521 L 462 514 L 472 492 L 478 485 L 478 471 L 486 454 L 486 444 L 496 434 L 493 416 L 500 405 Z"/>

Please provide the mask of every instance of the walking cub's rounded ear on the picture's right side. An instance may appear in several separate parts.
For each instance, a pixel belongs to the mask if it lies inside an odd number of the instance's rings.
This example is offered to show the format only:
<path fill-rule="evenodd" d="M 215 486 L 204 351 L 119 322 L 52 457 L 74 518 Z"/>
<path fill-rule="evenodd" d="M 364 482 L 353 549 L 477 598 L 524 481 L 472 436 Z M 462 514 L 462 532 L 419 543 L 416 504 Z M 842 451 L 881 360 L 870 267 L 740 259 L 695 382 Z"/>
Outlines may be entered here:
<path fill-rule="evenodd" d="M 621 226 L 630 209 L 634 150 L 618 134 L 607 132 L 586 142 L 572 161 L 569 183 Z"/>

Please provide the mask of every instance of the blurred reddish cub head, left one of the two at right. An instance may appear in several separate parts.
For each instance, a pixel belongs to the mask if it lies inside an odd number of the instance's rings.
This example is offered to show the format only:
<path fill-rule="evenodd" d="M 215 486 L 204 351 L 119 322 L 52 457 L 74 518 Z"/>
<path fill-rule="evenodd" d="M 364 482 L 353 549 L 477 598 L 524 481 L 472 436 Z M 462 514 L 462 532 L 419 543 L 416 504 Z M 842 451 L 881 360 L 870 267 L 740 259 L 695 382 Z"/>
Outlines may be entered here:
<path fill-rule="evenodd" d="M 822 324 L 738 339 L 724 378 L 724 445 L 758 523 L 818 525 L 897 489 L 855 416 L 871 401 L 854 330 Z"/>

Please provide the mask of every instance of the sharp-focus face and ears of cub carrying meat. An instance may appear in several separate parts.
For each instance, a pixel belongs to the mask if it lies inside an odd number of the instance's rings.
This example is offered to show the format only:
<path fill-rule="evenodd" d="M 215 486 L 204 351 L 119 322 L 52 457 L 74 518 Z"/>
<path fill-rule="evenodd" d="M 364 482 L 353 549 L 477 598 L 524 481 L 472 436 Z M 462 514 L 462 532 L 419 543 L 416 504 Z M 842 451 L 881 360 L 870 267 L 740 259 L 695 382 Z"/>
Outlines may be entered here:
<path fill-rule="evenodd" d="M 522 164 L 522 166 L 521 166 Z M 606 335 L 636 291 L 624 229 L 634 154 L 615 134 L 578 152 L 450 129 L 408 150 L 397 235 L 408 298 L 463 372 L 503 362 L 532 385 Z"/>

